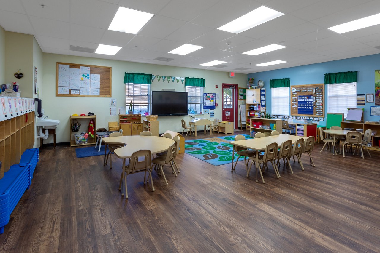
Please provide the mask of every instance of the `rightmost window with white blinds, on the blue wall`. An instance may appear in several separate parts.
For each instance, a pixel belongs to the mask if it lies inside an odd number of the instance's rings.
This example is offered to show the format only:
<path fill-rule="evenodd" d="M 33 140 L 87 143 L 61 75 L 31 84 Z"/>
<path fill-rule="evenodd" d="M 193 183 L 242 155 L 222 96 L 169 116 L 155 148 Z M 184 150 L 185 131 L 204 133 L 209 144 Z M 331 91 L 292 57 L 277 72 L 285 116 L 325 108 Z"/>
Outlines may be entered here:
<path fill-rule="evenodd" d="M 327 89 L 327 112 L 344 113 L 347 117 L 347 108 L 356 108 L 356 83 L 332 83 Z"/>

